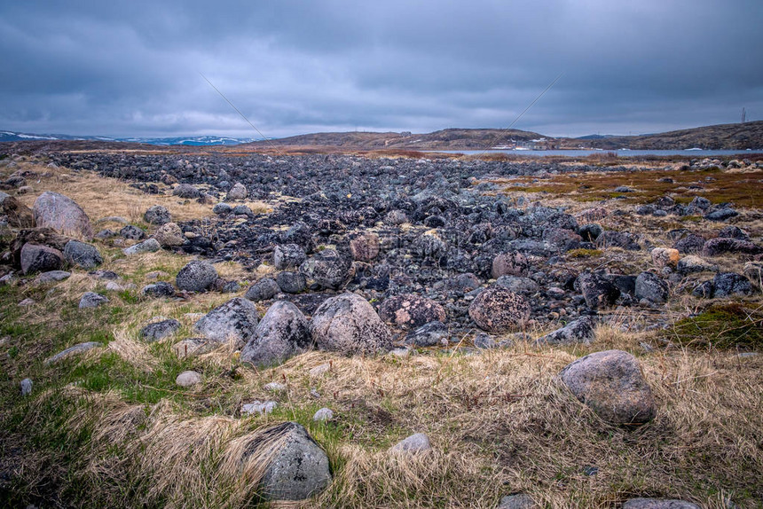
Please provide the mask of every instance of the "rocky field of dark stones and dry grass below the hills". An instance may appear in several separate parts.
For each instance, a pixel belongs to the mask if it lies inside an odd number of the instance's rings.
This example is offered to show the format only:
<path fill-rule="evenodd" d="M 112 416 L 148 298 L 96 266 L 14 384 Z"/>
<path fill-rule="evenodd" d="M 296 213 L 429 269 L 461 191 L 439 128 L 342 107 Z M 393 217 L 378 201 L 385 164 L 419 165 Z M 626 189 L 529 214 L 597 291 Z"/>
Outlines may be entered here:
<path fill-rule="evenodd" d="M 763 159 L 28 146 L 4 506 L 763 506 Z"/>

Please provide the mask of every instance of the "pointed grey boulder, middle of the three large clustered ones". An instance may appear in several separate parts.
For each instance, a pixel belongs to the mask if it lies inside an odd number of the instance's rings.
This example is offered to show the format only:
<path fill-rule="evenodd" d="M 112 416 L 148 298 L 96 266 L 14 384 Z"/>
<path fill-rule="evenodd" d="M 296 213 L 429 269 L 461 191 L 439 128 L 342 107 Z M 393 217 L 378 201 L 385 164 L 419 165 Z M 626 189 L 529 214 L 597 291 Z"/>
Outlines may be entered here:
<path fill-rule="evenodd" d="M 257 325 L 255 336 L 241 350 L 241 362 L 256 366 L 281 364 L 309 348 L 310 326 L 302 311 L 288 301 L 275 301 Z"/>

